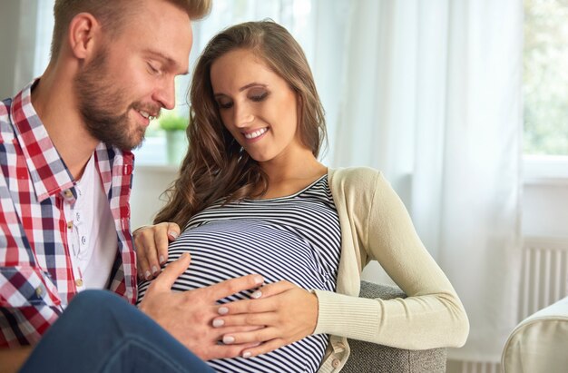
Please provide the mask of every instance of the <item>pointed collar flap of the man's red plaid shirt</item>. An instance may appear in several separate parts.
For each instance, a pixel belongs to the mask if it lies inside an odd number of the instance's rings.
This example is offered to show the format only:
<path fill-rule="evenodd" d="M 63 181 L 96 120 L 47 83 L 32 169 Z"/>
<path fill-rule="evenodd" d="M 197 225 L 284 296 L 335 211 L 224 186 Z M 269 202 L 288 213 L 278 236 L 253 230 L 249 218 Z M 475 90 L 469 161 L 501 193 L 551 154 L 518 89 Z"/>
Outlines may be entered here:
<path fill-rule="evenodd" d="M 49 138 L 44 123 L 32 105 L 32 87 L 29 83 L 15 95 L 11 116 L 15 135 L 24 154 L 37 201 L 73 188 L 73 176 Z"/>

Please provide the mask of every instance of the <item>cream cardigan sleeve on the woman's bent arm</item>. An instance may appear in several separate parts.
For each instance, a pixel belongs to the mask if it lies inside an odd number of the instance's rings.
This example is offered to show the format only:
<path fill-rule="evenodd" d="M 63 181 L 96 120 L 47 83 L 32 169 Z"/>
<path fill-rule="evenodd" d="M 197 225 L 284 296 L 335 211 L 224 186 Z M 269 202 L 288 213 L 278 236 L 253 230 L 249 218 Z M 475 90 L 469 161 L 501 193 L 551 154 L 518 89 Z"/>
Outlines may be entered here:
<path fill-rule="evenodd" d="M 357 184 L 360 188 L 361 183 Z M 316 290 L 315 332 L 396 348 L 463 346 L 469 322 L 454 288 L 418 238 L 403 202 L 379 172 L 373 184 L 369 204 L 348 203 L 349 221 L 359 250 L 378 260 L 408 298 L 361 299 Z"/>

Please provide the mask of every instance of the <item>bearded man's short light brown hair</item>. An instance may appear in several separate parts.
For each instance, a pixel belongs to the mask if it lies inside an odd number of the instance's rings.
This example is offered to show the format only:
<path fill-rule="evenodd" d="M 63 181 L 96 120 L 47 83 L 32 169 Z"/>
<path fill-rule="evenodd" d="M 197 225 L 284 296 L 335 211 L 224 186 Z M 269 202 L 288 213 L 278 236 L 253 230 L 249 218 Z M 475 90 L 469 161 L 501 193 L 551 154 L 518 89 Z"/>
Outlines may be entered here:
<path fill-rule="evenodd" d="M 200 19 L 211 11 L 211 0 L 162 0 L 178 6 L 191 19 Z M 126 18 L 138 10 L 138 0 L 55 0 L 52 59 L 57 58 L 71 20 L 80 13 L 93 15 L 111 36 L 119 34 Z"/>

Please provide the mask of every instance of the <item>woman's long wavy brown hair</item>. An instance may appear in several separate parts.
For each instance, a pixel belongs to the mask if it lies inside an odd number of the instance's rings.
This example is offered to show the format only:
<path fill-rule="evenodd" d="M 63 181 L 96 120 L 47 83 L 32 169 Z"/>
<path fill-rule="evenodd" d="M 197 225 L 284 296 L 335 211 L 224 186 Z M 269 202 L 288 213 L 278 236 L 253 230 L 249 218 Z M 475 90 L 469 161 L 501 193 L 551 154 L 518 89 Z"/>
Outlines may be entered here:
<path fill-rule="evenodd" d="M 183 229 L 195 213 L 214 201 L 258 197 L 268 189 L 268 178 L 259 163 L 250 158 L 223 125 L 213 96 L 211 64 L 235 49 L 256 54 L 298 95 L 299 108 L 290 110 L 299 110 L 300 140 L 315 157 L 326 140 L 323 107 L 298 42 L 272 21 L 231 26 L 211 39 L 193 72 L 187 129 L 189 151 L 177 180 L 164 192 L 167 202 L 154 224 L 172 221 Z M 259 186 L 262 192 L 253 194 Z"/>

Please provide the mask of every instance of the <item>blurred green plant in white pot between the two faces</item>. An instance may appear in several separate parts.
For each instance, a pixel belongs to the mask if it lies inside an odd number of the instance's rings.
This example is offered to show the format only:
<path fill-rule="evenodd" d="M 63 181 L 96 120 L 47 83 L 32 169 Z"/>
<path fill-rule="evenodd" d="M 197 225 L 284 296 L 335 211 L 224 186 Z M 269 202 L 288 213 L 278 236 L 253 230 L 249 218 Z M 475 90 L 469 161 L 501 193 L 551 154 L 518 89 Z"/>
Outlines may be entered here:
<path fill-rule="evenodd" d="M 166 133 L 166 154 L 168 163 L 180 164 L 185 156 L 188 141 L 185 134 L 189 120 L 176 113 L 167 113 L 160 117 L 160 127 Z"/>

